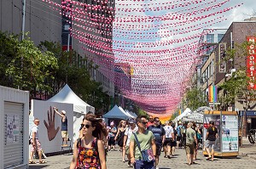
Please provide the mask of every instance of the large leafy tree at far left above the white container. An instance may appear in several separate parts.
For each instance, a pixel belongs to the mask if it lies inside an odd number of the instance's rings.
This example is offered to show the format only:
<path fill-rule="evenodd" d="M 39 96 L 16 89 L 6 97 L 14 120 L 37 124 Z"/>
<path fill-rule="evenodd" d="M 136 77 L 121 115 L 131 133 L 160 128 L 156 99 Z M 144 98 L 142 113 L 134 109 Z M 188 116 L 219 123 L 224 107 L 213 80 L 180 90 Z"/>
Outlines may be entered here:
<path fill-rule="evenodd" d="M 2 85 L 30 91 L 31 98 L 37 91 L 51 90 L 44 81 L 54 79 L 52 70 L 58 69 L 53 53 L 40 51 L 28 37 L 20 42 L 19 35 L 3 32 L 0 47 Z"/>

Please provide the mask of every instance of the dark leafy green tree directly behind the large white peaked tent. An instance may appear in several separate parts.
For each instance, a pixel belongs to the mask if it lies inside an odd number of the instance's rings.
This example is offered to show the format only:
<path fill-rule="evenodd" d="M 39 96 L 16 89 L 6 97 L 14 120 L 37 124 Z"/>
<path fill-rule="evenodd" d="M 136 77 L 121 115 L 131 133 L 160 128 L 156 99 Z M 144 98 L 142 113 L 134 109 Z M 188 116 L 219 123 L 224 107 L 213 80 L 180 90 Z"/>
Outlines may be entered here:
<path fill-rule="evenodd" d="M 62 51 L 61 45 L 57 42 L 41 42 L 39 47 L 55 54 L 58 60 L 59 69 L 55 72 L 55 93 L 66 83 L 86 103 L 96 109 L 96 114 L 102 115 L 108 111 L 110 97 L 103 92 L 102 83 L 94 81 L 89 70 L 96 70 L 97 65 L 87 58 L 82 58 L 74 50 Z M 88 64 L 86 64 L 88 63 Z M 53 94 L 55 94 L 53 93 Z"/>

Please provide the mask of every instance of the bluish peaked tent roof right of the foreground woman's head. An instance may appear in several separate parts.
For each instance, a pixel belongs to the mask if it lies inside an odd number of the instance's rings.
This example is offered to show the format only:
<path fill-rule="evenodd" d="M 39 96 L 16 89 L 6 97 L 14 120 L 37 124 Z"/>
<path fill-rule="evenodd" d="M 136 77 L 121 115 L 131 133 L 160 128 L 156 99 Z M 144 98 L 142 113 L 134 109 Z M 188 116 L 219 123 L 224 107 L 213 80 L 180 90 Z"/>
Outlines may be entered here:
<path fill-rule="evenodd" d="M 103 115 L 103 118 L 128 120 L 129 118 L 131 118 L 131 115 L 127 115 L 125 111 L 120 110 L 117 105 L 114 105 L 112 110 L 109 110 L 108 113 Z"/>

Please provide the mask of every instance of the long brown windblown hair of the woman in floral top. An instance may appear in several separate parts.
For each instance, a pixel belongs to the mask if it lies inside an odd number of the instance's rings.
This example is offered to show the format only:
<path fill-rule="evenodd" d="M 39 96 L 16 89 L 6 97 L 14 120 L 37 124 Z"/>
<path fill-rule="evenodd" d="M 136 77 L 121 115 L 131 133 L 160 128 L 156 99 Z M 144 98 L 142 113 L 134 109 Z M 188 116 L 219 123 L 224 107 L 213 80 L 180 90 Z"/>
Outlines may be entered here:
<path fill-rule="evenodd" d="M 103 139 L 102 137 L 107 137 L 108 131 L 106 127 L 102 125 L 102 120 L 101 119 L 96 119 L 93 116 L 85 116 L 83 121 L 90 121 L 91 126 L 95 127 L 95 130 L 92 132 L 92 135 L 98 139 Z"/>

